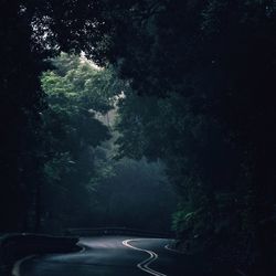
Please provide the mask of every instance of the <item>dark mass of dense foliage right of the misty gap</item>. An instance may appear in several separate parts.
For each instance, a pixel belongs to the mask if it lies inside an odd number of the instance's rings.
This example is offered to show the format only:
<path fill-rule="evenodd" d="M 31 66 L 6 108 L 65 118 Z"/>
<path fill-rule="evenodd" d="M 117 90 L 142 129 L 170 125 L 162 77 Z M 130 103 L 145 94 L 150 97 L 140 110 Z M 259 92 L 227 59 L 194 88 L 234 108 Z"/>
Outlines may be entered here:
<path fill-rule="evenodd" d="M 123 155 L 164 160 L 187 247 L 273 275 L 274 1 L 115 2 L 107 52 L 135 91 Z"/>

